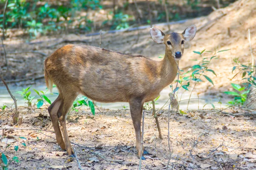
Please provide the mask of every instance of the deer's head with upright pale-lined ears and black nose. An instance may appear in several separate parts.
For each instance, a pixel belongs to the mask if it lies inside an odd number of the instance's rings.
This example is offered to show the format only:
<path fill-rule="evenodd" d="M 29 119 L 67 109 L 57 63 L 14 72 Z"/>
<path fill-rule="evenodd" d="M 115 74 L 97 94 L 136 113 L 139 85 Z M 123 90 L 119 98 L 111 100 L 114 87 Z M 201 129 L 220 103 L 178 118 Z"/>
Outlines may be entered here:
<path fill-rule="evenodd" d="M 177 61 L 181 59 L 184 51 L 184 42 L 191 41 L 195 37 L 196 27 L 194 25 L 186 28 L 182 34 L 173 32 L 164 34 L 157 28 L 150 28 L 150 35 L 154 42 L 166 45 L 166 52 L 171 52 Z"/>

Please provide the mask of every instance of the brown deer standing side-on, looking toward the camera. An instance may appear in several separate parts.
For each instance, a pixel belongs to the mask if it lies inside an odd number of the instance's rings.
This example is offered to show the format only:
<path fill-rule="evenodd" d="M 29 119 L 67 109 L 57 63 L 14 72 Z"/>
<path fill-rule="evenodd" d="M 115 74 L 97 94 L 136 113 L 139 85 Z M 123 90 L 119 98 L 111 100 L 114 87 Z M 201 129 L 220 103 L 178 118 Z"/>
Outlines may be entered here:
<path fill-rule="evenodd" d="M 195 33 L 194 25 L 182 34 L 164 34 L 152 27 L 152 39 L 166 45 L 162 61 L 89 45 L 65 45 L 50 55 L 44 62 L 44 75 L 50 91 L 53 84 L 59 91 L 48 111 L 60 147 L 66 149 L 69 156 L 74 156 L 66 129 L 66 114 L 78 94 L 82 94 L 98 102 L 129 102 L 136 148 L 139 157 L 145 159 L 143 153 L 147 152 L 141 144 L 143 104 L 159 96 L 160 91 L 175 79 L 176 61 L 183 55 L 184 41 L 192 40 Z"/>

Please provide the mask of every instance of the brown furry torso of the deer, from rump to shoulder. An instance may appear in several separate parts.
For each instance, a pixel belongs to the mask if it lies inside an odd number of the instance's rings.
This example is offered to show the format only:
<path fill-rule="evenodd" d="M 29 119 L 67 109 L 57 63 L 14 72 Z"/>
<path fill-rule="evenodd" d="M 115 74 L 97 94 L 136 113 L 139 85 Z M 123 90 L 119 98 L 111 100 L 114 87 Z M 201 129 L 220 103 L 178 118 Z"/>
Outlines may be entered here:
<path fill-rule="evenodd" d="M 159 77 L 157 61 L 89 45 L 65 45 L 45 62 L 59 90 L 66 86 L 99 102 L 145 97 Z"/>

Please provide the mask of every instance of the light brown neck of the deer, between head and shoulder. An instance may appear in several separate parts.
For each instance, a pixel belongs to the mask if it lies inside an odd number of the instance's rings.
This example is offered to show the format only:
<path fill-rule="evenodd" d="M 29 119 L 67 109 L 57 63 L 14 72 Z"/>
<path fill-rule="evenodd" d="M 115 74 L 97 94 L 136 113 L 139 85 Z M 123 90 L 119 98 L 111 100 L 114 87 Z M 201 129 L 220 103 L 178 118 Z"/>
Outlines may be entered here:
<path fill-rule="evenodd" d="M 179 64 L 179 61 L 176 63 L 174 57 L 172 57 L 172 52 L 166 50 L 165 56 L 159 67 L 161 84 L 163 84 L 165 87 L 171 84 L 175 79 L 178 71 L 177 64 Z"/>

